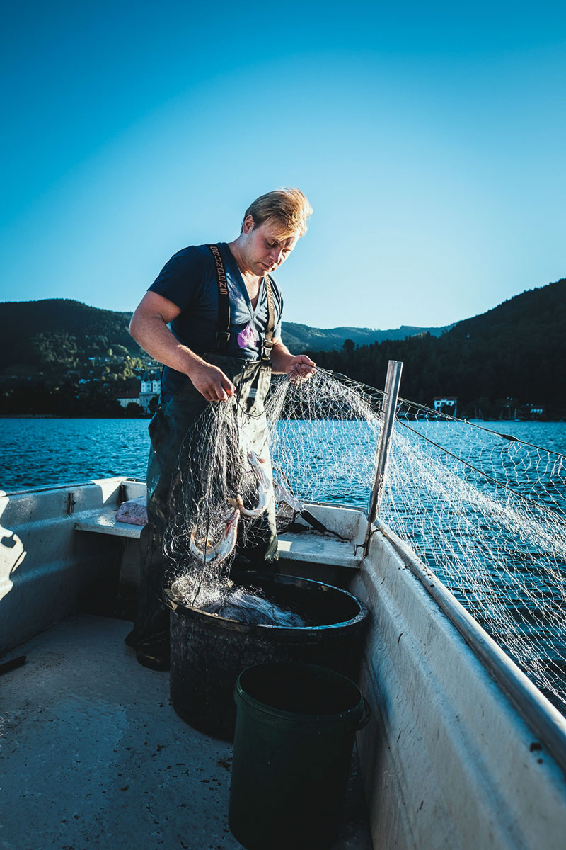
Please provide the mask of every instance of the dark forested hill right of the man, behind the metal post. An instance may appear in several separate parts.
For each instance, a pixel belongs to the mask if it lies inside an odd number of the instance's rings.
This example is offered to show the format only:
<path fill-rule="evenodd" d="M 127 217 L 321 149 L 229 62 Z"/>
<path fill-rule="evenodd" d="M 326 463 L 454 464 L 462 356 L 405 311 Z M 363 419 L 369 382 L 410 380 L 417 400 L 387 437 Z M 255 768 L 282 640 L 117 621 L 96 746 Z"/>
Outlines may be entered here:
<path fill-rule="evenodd" d="M 505 405 L 545 405 L 566 416 L 566 279 L 523 292 L 441 337 L 429 334 L 339 352 L 313 352 L 317 363 L 383 387 L 388 360 L 404 363 L 401 395 L 431 405 L 456 395 L 460 411 L 502 415 Z"/>

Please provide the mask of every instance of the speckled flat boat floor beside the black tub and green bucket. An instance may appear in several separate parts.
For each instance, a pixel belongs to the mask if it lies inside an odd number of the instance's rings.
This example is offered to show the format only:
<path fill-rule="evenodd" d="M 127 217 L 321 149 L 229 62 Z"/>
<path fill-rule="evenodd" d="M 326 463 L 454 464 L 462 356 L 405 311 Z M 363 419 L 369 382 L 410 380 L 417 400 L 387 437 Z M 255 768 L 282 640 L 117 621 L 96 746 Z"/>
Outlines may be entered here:
<path fill-rule="evenodd" d="M 169 674 L 137 664 L 131 624 L 77 615 L 13 650 L 2 685 L 3 850 L 231 850 L 232 745 L 184 723 Z M 370 850 L 355 759 L 333 850 Z"/>

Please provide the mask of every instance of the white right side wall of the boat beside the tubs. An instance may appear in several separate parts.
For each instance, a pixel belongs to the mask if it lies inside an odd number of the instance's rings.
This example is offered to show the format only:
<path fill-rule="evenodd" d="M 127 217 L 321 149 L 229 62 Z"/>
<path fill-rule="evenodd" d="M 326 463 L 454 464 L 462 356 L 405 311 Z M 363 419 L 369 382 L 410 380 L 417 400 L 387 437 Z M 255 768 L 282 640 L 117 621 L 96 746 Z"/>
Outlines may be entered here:
<path fill-rule="evenodd" d="M 563 848 L 563 770 L 383 534 L 351 591 L 373 615 L 359 751 L 375 850 Z"/>

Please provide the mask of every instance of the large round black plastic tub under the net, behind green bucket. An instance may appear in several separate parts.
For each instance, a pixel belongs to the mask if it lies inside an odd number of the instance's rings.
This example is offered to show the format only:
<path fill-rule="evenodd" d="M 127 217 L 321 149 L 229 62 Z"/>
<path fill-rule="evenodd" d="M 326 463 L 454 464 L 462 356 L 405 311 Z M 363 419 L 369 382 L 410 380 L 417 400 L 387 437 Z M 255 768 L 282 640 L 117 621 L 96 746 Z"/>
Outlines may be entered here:
<path fill-rule="evenodd" d="M 260 587 L 277 604 L 303 611 L 309 626 L 256 626 L 180 603 L 171 592 L 171 705 L 191 726 L 233 740 L 234 687 L 246 668 L 268 661 L 329 667 L 357 681 L 367 610 L 339 587 L 293 575 L 239 573 L 239 587 Z"/>

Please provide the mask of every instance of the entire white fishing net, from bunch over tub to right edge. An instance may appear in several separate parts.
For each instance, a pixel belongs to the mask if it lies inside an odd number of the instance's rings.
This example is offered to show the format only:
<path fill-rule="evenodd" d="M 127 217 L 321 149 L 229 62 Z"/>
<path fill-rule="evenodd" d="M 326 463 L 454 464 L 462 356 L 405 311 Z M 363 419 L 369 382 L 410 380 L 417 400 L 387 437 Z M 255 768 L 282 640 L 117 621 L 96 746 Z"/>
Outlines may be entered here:
<path fill-rule="evenodd" d="M 240 547 L 265 535 L 266 514 L 241 514 L 238 547 L 215 560 L 238 496 L 247 508 L 261 502 L 250 457 L 263 461 L 279 531 L 303 502 L 366 510 L 383 399 L 376 389 L 317 370 L 301 383 L 275 377 L 254 420 L 242 406 L 210 405 L 198 439 L 180 456 L 165 546 L 172 580 L 185 583 L 190 604 L 225 598 Z M 520 424 L 509 428 L 519 432 Z M 497 428 L 401 401 L 379 519 L 563 710 L 565 458 L 559 446 L 543 449 Z"/>

